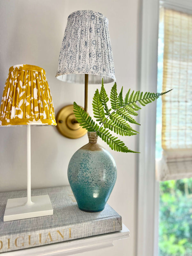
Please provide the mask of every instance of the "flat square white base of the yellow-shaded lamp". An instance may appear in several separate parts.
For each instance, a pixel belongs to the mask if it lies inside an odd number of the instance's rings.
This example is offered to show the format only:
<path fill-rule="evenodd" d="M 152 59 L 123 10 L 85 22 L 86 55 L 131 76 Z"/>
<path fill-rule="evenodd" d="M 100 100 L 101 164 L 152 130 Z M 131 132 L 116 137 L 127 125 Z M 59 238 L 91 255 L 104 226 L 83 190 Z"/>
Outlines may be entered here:
<path fill-rule="evenodd" d="M 3 220 L 21 220 L 53 215 L 53 208 L 48 195 L 31 196 L 31 201 L 34 204 L 27 205 L 27 197 L 8 199 Z"/>

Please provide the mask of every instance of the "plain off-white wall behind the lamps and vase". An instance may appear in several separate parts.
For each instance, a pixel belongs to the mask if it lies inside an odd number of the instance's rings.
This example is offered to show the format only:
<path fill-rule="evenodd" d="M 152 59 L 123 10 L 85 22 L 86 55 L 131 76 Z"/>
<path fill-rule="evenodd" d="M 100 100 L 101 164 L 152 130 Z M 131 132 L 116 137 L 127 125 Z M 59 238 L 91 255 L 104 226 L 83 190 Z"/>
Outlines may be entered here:
<path fill-rule="evenodd" d="M 1 0 L 0 97 L 9 67 L 31 64 L 46 71 L 55 114 L 74 100 L 84 105 L 84 86 L 60 82 L 55 74 L 67 17 L 71 12 L 86 9 L 99 11 L 108 17 L 118 90 L 121 86 L 124 86 L 124 92 L 129 88 L 136 90 L 139 3 L 140 0 Z M 106 85 L 106 89 L 111 85 Z M 89 86 L 90 114 L 96 88 L 95 85 Z M 138 150 L 138 138 L 122 139 L 128 148 Z M 86 143 L 86 136 L 76 140 L 67 139 L 60 135 L 56 127 L 31 127 L 32 188 L 68 185 L 68 162 L 73 153 Z M 136 241 L 137 156 L 111 151 L 101 140 L 99 143 L 111 152 L 118 169 L 116 185 L 108 203 L 122 215 L 124 224 L 131 231 L 131 237 L 126 239 L 127 249 L 121 255 L 133 256 Z M 26 127 L 1 127 L 0 148 L 0 191 L 26 189 Z"/>

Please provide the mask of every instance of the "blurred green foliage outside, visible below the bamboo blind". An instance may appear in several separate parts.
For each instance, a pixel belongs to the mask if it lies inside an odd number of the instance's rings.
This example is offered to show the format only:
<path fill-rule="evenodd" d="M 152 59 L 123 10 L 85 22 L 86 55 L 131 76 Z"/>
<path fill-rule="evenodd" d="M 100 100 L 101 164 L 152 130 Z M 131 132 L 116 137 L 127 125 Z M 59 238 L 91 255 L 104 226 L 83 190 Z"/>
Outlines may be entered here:
<path fill-rule="evenodd" d="M 192 255 L 192 178 L 160 182 L 159 256 Z"/>

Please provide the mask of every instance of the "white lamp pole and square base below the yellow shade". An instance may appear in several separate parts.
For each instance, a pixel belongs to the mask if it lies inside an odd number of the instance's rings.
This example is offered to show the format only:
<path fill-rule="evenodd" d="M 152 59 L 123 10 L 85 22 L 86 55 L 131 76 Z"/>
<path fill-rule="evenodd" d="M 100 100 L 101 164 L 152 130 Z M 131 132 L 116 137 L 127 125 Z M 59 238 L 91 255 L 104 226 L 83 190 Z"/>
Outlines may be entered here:
<path fill-rule="evenodd" d="M 31 136 L 30 125 L 27 125 L 27 197 L 8 199 L 3 220 L 21 220 L 47 215 L 53 215 L 49 196 L 31 196 Z"/>

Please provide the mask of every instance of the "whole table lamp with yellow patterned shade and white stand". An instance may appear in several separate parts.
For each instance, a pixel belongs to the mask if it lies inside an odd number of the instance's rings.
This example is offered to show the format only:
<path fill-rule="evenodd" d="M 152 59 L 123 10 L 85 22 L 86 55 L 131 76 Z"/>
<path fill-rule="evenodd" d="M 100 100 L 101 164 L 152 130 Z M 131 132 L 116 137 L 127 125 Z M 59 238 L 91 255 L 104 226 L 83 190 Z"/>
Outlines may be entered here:
<path fill-rule="evenodd" d="M 0 125 L 27 125 L 27 197 L 7 200 L 4 221 L 52 215 L 48 195 L 31 196 L 30 125 L 56 125 L 44 69 L 32 65 L 15 65 L 9 69 Z"/>

